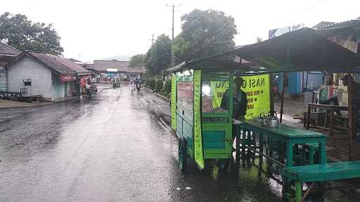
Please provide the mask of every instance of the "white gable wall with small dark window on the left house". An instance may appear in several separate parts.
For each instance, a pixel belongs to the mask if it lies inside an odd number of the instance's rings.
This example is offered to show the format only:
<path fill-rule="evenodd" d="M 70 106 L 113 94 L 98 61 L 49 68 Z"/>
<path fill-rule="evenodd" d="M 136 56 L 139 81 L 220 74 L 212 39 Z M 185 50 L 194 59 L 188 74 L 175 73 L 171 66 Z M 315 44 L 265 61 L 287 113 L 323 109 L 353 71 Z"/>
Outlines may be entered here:
<path fill-rule="evenodd" d="M 32 79 L 31 86 L 24 86 L 23 79 Z M 27 88 L 25 96 L 51 99 L 51 84 L 51 69 L 27 56 L 8 68 L 9 91 L 20 92 L 20 88 Z"/>

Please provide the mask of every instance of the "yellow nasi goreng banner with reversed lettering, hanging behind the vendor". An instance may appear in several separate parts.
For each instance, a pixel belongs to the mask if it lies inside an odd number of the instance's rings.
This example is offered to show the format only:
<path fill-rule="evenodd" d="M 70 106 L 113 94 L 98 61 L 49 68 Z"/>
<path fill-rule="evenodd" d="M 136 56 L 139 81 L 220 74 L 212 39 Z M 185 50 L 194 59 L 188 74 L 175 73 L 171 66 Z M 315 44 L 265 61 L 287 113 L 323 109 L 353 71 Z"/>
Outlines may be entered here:
<path fill-rule="evenodd" d="M 256 76 L 241 76 L 243 78 L 243 86 L 241 90 L 246 93 L 248 98 L 248 110 L 245 119 L 253 119 L 261 113 L 270 111 L 270 82 L 269 74 Z M 226 84 L 228 86 L 226 86 Z M 212 89 L 212 107 L 217 108 L 221 105 L 222 96 L 225 90 L 229 88 L 229 82 L 212 81 L 210 83 Z"/>

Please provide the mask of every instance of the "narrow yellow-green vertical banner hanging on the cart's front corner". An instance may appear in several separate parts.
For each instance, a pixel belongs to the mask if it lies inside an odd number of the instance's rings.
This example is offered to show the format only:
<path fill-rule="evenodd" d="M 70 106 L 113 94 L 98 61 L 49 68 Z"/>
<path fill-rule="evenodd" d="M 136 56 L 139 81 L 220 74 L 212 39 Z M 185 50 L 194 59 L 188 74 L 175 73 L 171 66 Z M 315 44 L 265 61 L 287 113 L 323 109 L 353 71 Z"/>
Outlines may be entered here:
<path fill-rule="evenodd" d="M 203 137 L 201 130 L 201 70 L 194 71 L 194 153 L 200 169 L 205 167 L 203 158 Z"/>

